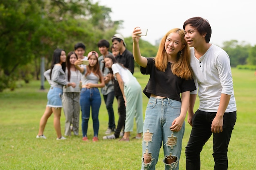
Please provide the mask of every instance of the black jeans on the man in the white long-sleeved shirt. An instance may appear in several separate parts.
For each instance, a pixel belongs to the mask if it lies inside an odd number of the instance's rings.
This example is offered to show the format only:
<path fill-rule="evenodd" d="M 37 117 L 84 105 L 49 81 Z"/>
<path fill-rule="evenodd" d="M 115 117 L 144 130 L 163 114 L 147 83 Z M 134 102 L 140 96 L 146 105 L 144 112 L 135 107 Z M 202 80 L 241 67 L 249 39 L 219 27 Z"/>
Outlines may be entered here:
<path fill-rule="evenodd" d="M 211 137 L 211 123 L 216 113 L 197 110 L 192 118 L 192 130 L 186 146 L 186 170 L 200 170 L 200 152 Z M 221 133 L 213 133 L 214 170 L 227 170 L 227 148 L 236 123 L 236 111 L 225 113 Z"/>

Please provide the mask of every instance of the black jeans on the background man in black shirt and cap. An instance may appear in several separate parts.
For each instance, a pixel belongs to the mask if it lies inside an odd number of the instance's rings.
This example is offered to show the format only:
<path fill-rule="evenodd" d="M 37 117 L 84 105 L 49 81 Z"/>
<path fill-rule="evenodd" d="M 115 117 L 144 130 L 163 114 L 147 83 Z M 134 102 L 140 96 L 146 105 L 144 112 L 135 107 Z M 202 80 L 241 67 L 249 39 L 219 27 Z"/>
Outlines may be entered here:
<path fill-rule="evenodd" d="M 121 132 L 122 127 L 125 124 L 125 117 L 126 117 L 126 107 L 124 104 L 124 98 L 123 96 L 116 96 L 117 98 L 117 103 L 118 103 L 118 114 L 119 114 L 119 119 L 117 123 L 117 129 L 115 131 L 115 137 L 118 138 Z"/>

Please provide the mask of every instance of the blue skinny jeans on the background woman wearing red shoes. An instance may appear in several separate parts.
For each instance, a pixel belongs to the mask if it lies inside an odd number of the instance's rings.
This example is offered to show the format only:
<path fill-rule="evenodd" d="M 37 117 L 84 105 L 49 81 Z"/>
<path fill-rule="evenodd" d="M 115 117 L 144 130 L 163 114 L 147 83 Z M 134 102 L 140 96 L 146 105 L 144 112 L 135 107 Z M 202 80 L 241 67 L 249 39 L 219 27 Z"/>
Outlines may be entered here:
<path fill-rule="evenodd" d="M 82 110 L 82 131 L 83 137 L 87 137 L 90 109 L 92 108 L 92 122 L 94 136 L 99 134 L 99 107 L 101 106 L 101 95 L 98 88 L 82 88 L 80 105 Z"/>

